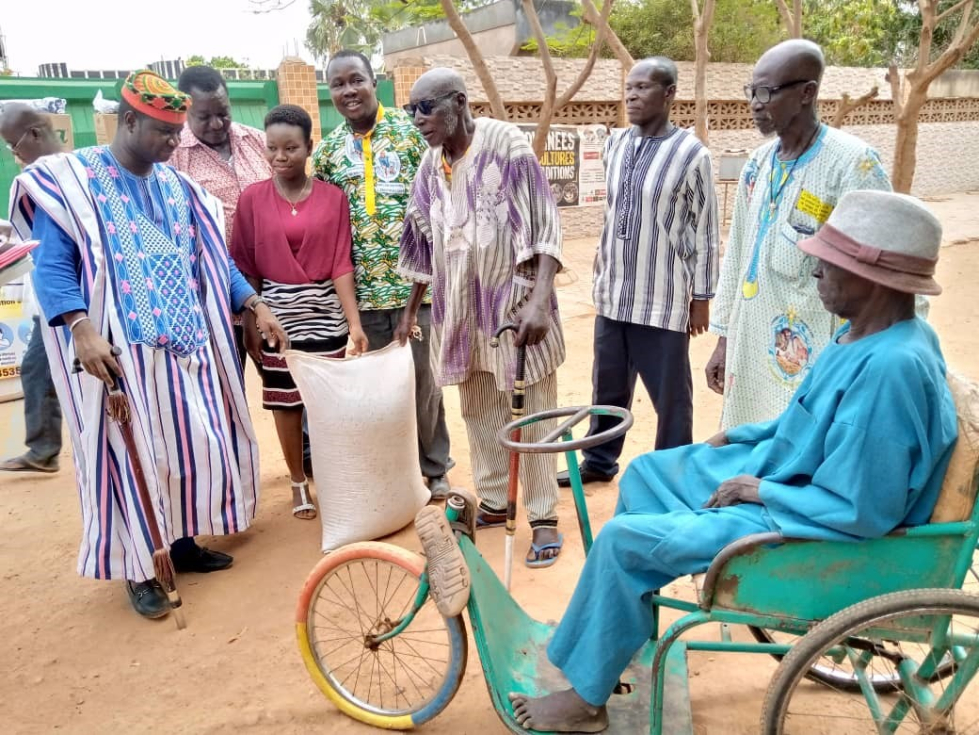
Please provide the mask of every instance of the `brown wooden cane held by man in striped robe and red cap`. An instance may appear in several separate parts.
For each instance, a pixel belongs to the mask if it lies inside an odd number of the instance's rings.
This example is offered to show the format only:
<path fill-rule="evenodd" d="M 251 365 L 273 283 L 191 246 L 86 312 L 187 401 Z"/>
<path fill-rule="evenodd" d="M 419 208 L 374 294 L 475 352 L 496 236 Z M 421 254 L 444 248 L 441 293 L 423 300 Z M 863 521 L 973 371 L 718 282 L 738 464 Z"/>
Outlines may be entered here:
<path fill-rule="evenodd" d="M 118 357 L 122 350 L 113 345 L 112 355 Z M 73 363 L 72 372 L 82 372 L 82 364 L 76 357 Z M 106 389 L 106 414 L 109 418 L 119 424 L 119 431 L 122 433 L 122 440 L 126 445 L 126 453 L 129 455 L 129 462 L 133 468 L 133 479 L 136 481 L 136 492 L 140 507 L 146 518 L 146 525 L 150 532 L 150 541 L 153 543 L 153 574 L 157 582 L 167 593 L 167 600 L 170 602 L 170 609 L 173 611 L 177 629 L 183 630 L 187 623 L 184 620 L 184 613 L 181 609 L 183 601 L 177 592 L 175 581 L 176 572 L 173 569 L 173 560 L 170 558 L 170 550 L 164 545 L 163 538 L 160 536 L 160 526 L 156 520 L 156 511 L 153 509 L 153 501 L 150 498 L 149 488 L 146 487 L 146 476 L 143 474 L 143 464 L 139 460 L 139 452 L 136 450 L 136 438 L 133 436 L 133 426 L 130 423 L 131 414 L 129 411 L 129 398 L 122 392 L 122 382 L 118 376 L 111 388 Z"/>

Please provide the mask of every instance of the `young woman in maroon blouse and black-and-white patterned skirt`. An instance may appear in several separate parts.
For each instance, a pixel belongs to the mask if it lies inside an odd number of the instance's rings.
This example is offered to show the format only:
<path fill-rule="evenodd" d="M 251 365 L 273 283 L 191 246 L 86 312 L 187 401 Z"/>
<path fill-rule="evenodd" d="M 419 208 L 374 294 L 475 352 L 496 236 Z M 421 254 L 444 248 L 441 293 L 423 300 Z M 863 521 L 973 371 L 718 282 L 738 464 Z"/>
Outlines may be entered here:
<path fill-rule="evenodd" d="M 333 184 L 306 173 L 313 122 L 295 105 L 265 117 L 266 157 L 272 178 L 241 193 L 231 255 L 289 335 L 290 346 L 326 357 L 367 349 L 360 327 L 351 260 L 347 197 Z M 293 515 L 316 517 L 303 472 L 303 403 L 285 360 L 261 342 L 254 321 L 245 346 L 261 359 L 262 405 L 272 411 L 292 479 Z"/>

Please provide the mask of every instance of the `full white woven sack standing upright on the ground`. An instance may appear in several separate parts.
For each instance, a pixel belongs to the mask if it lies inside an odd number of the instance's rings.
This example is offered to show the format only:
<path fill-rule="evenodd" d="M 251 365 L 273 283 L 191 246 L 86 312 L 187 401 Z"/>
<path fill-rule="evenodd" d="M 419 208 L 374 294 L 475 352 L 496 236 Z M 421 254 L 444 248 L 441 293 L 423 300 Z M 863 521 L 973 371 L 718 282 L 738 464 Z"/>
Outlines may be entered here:
<path fill-rule="evenodd" d="M 306 405 L 323 551 L 404 528 L 429 499 L 411 347 L 342 360 L 295 350 L 285 357 Z"/>

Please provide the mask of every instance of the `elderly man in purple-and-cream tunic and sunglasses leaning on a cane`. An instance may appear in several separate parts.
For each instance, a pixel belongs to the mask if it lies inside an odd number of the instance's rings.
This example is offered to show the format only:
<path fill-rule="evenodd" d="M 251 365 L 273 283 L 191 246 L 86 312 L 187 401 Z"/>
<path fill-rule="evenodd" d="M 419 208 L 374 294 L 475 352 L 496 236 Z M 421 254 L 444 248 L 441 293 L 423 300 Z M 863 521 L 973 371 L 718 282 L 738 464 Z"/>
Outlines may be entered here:
<path fill-rule="evenodd" d="M 477 525 L 502 526 L 507 452 L 496 432 L 510 418 L 516 347 L 527 348 L 528 413 L 557 404 L 555 371 L 564 335 L 554 295 L 561 269 L 561 226 L 544 172 L 523 133 L 469 112 L 462 78 L 432 69 L 411 90 L 405 110 L 428 142 L 408 205 L 399 272 L 414 281 L 397 336 L 404 343 L 432 287 L 432 369 L 441 385 L 458 385 L 469 433 L 473 478 L 482 502 Z M 515 339 L 490 347 L 502 324 Z M 524 430 L 539 441 L 547 422 Z M 533 529 L 526 563 L 550 566 L 561 551 L 554 455 L 520 462 L 524 505 Z"/>

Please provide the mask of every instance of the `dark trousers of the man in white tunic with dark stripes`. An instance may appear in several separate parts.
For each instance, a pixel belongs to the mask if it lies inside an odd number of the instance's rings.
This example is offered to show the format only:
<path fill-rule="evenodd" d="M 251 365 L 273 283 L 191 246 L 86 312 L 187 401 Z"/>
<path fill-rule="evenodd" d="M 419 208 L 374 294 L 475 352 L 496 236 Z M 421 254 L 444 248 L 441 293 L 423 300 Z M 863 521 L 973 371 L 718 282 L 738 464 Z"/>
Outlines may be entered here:
<path fill-rule="evenodd" d="M 690 335 L 595 318 L 595 363 L 592 403 L 632 407 L 636 377 L 656 409 L 656 449 L 669 449 L 693 441 L 693 378 L 690 375 Z M 589 435 L 611 428 L 616 419 L 593 416 Z M 625 437 L 586 449 L 584 465 L 603 475 L 619 471 Z"/>

